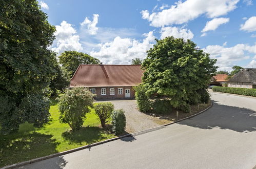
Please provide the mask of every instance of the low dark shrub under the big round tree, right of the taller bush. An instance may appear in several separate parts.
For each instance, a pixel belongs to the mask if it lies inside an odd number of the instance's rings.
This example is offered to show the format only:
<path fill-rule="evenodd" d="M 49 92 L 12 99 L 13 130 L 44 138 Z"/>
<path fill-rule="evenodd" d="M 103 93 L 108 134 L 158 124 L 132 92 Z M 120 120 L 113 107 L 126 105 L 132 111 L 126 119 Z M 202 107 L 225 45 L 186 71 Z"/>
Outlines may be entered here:
<path fill-rule="evenodd" d="M 168 99 L 156 99 L 152 107 L 153 112 L 157 114 L 169 113 L 172 110 L 172 105 Z"/>

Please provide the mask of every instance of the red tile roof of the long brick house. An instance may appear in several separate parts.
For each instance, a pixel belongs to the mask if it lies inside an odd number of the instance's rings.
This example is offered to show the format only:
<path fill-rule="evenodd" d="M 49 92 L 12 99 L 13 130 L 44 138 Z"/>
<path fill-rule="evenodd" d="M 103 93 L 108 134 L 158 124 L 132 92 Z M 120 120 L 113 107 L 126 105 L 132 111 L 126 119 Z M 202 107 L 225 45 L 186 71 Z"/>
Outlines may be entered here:
<path fill-rule="evenodd" d="M 140 65 L 80 65 L 69 87 L 137 86 L 142 75 Z"/>

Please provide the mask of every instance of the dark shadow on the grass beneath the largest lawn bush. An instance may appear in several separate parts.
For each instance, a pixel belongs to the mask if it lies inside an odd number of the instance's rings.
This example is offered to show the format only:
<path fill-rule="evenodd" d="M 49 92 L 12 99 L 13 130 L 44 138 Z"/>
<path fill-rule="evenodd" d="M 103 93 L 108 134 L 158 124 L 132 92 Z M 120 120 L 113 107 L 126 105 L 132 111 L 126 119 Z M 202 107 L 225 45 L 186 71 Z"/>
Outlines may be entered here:
<path fill-rule="evenodd" d="M 87 142 L 88 144 L 107 139 L 103 134 L 109 134 L 109 132 L 96 126 L 82 127 L 78 131 L 67 131 L 62 133 L 62 137 L 68 140 L 70 143 L 81 144 Z"/>

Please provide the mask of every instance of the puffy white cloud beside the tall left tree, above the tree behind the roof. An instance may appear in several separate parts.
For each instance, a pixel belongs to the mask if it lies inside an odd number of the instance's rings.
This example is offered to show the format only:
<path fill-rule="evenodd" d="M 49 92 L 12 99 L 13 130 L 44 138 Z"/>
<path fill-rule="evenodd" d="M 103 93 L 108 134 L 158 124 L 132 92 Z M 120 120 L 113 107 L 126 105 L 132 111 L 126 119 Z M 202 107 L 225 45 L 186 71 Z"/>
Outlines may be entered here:
<path fill-rule="evenodd" d="M 51 47 L 54 52 L 60 54 L 65 50 L 83 50 L 79 41 L 80 38 L 76 35 L 75 29 L 65 20 L 63 20 L 61 25 L 56 26 L 56 32 L 54 35 L 56 36 L 56 39 Z"/>

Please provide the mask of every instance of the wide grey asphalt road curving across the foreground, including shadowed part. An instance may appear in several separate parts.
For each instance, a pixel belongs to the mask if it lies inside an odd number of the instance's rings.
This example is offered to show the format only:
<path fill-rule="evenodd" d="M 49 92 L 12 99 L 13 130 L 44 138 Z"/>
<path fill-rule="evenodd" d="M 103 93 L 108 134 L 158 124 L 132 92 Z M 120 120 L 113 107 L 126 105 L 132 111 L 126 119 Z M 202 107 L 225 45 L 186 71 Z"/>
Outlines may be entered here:
<path fill-rule="evenodd" d="M 253 168 L 256 99 L 211 98 L 213 107 L 191 119 L 24 168 Z"/>

